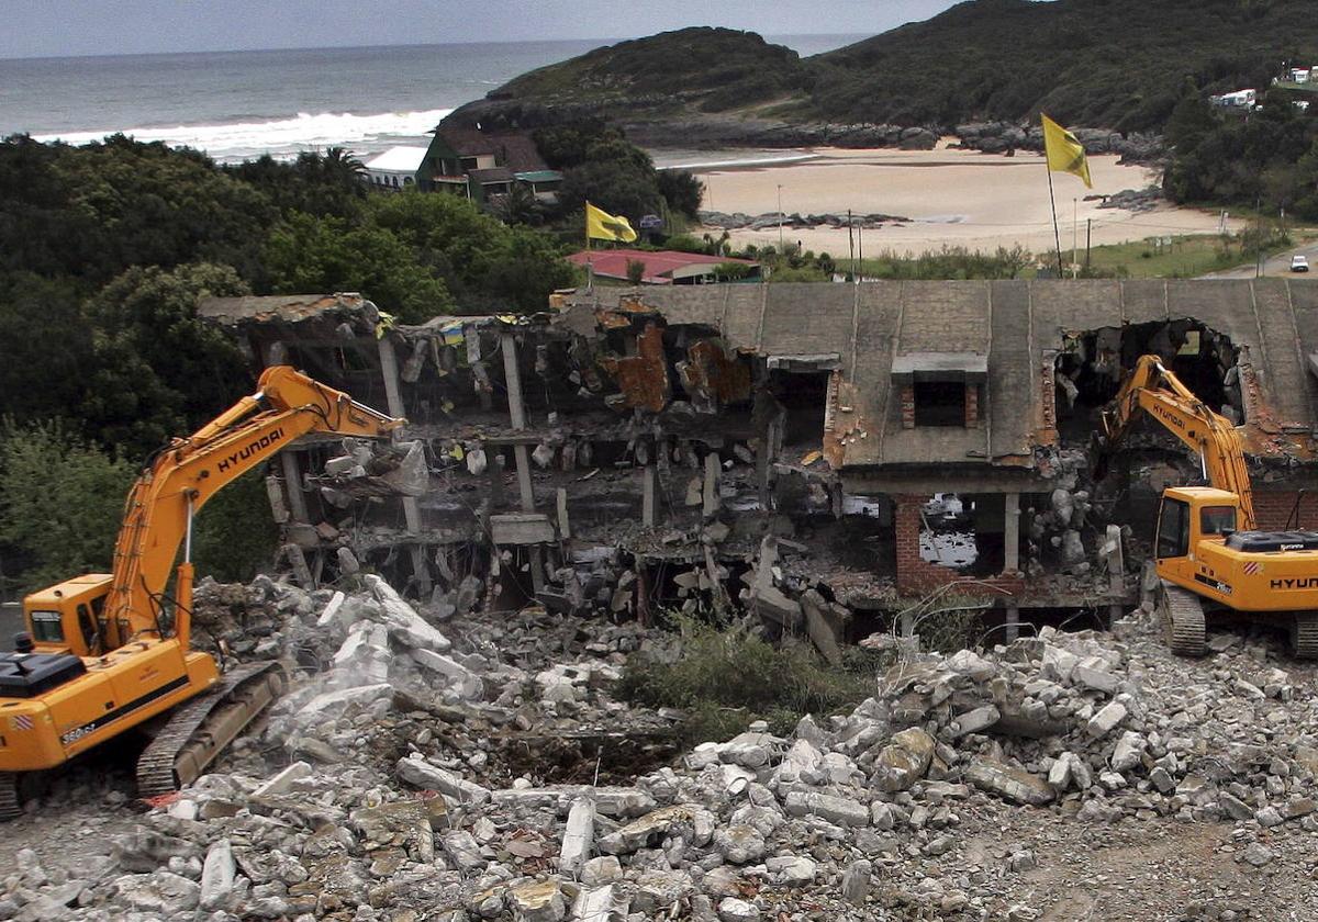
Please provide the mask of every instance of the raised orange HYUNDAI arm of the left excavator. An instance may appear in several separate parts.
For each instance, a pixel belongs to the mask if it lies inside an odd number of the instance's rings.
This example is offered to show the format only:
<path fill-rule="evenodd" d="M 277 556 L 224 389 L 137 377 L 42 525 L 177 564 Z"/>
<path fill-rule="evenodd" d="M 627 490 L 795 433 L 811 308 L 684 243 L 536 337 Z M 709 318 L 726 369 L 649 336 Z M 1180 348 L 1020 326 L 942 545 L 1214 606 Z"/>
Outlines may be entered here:
<path fill-rule="evenodd" d="M 261 375 L 245 396 L 186 439 L 159 452 L 133 485 L 115 545 L 107 627 L 115 645 L 142 632 L 159 634 L 159 614 L 174 560 L 174 631 L 188 648 L 191 630 L 192 518 L 219 490 L 308 432 L 381 437 L 405 420 L 355 402 L 289 366 Z"/>

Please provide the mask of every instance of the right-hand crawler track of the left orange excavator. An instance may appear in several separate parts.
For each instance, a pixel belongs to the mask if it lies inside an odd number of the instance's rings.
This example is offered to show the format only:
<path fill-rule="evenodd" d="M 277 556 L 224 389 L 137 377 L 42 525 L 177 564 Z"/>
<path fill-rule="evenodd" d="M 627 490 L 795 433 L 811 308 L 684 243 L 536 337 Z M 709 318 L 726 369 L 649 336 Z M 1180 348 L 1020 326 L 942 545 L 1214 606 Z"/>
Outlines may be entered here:
<path fill-rule="evenodd" d="M 253 663 L 228 670 L 217 686 L 175 710 L 137 759 L 138 797 L 159 797 L 195 781 L 282 685 L 278 663 Z"/>

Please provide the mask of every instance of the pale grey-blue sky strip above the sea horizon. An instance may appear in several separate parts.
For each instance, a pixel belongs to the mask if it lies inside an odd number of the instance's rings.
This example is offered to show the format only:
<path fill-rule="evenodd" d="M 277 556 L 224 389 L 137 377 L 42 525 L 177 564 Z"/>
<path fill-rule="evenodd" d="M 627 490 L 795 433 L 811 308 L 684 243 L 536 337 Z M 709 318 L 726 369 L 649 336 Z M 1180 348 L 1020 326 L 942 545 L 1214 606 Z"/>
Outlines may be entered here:
<path fill-rule="evenodd" d="M 0 57 L 631 38 L 688 25 L 879 33 L 954 0 L 0 0 Z"/>

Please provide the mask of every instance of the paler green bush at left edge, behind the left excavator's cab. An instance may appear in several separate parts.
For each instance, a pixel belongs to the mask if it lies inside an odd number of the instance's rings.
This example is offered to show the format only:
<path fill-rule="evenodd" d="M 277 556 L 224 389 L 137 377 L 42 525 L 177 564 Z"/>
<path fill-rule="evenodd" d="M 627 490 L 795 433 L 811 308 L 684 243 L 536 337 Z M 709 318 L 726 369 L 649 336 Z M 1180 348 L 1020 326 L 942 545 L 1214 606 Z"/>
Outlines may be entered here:
<path fill-rule="evenodd" d="M 24 589 L 107 572 L 133 466 L 59 423 L 0 429 L 0 543 Z"/>

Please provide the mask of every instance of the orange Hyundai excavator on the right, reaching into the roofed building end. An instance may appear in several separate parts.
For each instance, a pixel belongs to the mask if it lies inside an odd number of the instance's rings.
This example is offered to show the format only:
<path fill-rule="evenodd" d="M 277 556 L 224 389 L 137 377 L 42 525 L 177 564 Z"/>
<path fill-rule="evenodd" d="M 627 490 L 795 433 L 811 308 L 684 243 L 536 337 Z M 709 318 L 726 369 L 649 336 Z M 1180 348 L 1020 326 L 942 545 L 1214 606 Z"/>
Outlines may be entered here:
<path fill-rule="evenodd" d="M 1157 356 L 1143 356 L 1102 411 L 1103 450 L 1147 412 L 1199 456 L 1209 486 L 1162 491 L 1153 558 L 1172 652 L 1202 656 L 1205 616 L 1288 628 L 1296 656 L 1318 657 L 1318 532 L 1256 531 L 1244 447 Z"/>

